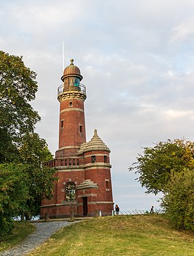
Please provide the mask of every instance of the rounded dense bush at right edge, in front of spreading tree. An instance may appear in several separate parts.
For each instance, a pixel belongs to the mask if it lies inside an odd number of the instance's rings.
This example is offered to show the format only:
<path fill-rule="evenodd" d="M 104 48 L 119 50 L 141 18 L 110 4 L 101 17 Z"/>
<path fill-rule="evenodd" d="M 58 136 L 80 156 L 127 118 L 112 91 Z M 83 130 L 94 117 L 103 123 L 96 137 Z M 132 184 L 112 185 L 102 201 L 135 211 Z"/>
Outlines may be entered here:
<path fill-rule="evenodd" d="M 194 231 L 194 172 L 171 172 L 161 206 L 177 228 Z"/>

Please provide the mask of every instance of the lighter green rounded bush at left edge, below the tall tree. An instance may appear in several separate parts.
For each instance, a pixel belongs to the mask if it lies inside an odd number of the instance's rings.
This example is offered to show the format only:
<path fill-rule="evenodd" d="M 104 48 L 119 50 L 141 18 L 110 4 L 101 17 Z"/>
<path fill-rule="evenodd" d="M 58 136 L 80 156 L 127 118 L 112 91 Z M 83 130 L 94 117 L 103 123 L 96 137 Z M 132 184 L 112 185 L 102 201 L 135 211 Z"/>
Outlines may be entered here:
<path fill-rule="evenodd" d="M 0 164 L 0 238 L 12 230 L 12 217 L 17 216 L 29 198 L 23 164 Z"/>

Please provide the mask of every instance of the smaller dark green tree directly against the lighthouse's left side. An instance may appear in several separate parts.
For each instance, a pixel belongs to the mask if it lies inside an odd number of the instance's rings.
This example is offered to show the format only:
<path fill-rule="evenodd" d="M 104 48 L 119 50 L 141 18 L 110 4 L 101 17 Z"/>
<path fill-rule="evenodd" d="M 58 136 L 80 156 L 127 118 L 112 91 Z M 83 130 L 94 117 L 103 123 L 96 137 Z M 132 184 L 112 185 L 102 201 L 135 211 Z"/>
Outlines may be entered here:
<path fill-rule="evenodd" d="M 46 140 L 40 138 L 38 133 L 30 133 L 23 136 L 23 144 L 19 149 L 20 162 L 26 166 L 27 184 L 29 187 L 29 199 L 25 203 L 25 216 L 37 216 L 40 213 L 41 200 L 51 199 L 56 172 L 54 168 L 43 166 L 42 163 L 53 158 L 48 150 Z"/>

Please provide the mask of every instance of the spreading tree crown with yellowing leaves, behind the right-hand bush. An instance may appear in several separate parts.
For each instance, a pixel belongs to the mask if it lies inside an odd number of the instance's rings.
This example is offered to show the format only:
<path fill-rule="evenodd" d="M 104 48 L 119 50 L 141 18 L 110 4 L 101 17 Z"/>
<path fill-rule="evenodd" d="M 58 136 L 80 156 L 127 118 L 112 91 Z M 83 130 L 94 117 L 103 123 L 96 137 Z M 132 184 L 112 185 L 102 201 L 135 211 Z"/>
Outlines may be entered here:
<path fill-rule="evenodd" d="M 171 172 L 181 172 L 184 168 L 194 169 L 194 143 L 185 140 L 158 142 L 154 147 L 145 147 L 143 155 L 130 167 L 139 175 L 137 180 L 147 193 L 157 194 L 167 190 Z"/>

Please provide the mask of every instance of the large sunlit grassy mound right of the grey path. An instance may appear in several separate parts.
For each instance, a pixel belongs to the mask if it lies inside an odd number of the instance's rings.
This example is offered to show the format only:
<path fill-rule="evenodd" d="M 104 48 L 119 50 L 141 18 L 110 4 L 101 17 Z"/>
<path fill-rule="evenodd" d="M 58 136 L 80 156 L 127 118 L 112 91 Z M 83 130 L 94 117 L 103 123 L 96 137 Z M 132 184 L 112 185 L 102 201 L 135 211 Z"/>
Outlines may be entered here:
<path fill-rule="evenodd" d="M 94 218 L 62 229 L 29 255 L 193 256 L 194 234 L 158 215 Z"/>

